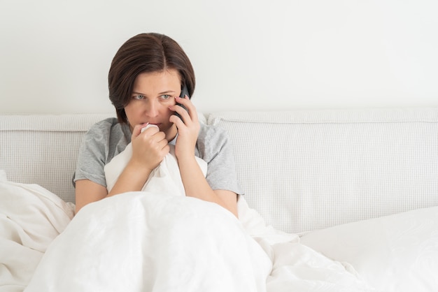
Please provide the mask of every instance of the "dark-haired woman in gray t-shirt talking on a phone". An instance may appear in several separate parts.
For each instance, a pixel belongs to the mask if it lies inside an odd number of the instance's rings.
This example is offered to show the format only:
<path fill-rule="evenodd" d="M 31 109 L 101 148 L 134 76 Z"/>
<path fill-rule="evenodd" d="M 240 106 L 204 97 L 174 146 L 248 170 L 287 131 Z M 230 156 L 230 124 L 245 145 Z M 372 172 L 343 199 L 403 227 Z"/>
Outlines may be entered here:
<path fill-rule="evenodd" d="M 236 194 L 242 191 L 227 137 L 220 129 L 200 125 L 188 96 L 179 97 L 184 86 L 193 94 L 195 73 L 178 43 L 162 34 L 130 38 L 115 54 L 108 83 L 118 119 L 95 124 L 85 137 L 74 178 L 76 212 L 88 203 L 139 191 L 169 153 L 168 143 L 176 140 L 185 195 L 217 203 L 237 217 Z M 158 128 L 141 133 L 148 124 Z M 108 192 L 104 166 L 129 142 L 132 159 Z M 195 155 L 208 163 L 206 177 Z"/>

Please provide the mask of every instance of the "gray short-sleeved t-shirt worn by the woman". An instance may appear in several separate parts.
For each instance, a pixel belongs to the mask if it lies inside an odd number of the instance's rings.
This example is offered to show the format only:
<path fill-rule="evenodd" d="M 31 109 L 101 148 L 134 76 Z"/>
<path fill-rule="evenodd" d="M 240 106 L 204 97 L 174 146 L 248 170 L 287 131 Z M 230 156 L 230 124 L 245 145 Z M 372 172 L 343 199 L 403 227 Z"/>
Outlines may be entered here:
<path fill-rule="evenodd" d="M 73 182 L 86 179 L 106 187 L 104 166 L 125 149 L 131 135 L 129 126 L 113 117 L 94 124 L 80 146 Z M 195 155 L 207 163 L 206 180 L 211 189 L 243 194 L 237 182 L 232 148 L 223 129 L 201 124 Z"/>

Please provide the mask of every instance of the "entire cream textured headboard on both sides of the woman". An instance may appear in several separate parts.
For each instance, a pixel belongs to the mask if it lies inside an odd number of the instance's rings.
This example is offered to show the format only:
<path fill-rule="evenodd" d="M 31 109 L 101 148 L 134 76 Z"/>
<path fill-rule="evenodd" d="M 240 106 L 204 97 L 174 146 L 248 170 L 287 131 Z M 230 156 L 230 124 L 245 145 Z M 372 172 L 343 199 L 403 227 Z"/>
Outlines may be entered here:
<path fill-rule="evenodd" d="M 74 201 L 83 135 L 112 115 L 0 115 L 0 169 Z M 204 119 L 204 115 L 200 115 Z M 218 112 L 250 207 L 300 233 L 438 205 L 438 109 Z"/>

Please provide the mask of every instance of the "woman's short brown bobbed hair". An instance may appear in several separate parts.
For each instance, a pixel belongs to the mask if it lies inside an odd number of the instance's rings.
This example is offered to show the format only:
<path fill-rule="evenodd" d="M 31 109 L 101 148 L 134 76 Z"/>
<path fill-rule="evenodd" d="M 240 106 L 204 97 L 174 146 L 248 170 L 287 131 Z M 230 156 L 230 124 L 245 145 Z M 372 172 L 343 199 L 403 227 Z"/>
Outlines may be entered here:
<path fill-rule="evenodd" d="M 129 38 L 115 54 L 108 73 L 109 98 L 118 121 L 127 123 L 125 106 L 131 100 L 134 81 L 140 73 L 176 69 L 181 88 L 187 85 L 189 96 L 195 91 L 195 72 L 190 59 L 176 41 L 163 34 L 138 34 Z"/>

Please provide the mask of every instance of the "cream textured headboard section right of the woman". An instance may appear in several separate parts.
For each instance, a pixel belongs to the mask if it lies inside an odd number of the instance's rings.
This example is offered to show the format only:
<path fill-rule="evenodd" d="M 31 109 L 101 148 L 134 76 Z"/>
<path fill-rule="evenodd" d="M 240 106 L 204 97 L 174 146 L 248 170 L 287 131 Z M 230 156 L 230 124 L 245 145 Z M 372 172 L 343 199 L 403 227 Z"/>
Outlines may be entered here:
<path fill-rule="evenodd" d="M 438 205 L 438 110 L 225 112 L 246 200 L 300 233 Z"/>

